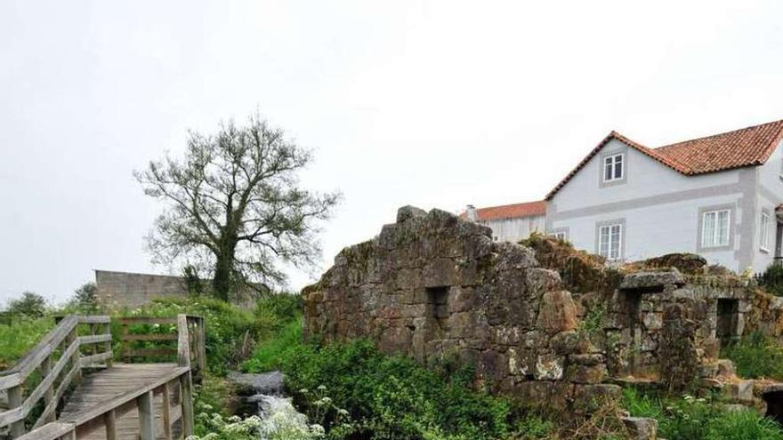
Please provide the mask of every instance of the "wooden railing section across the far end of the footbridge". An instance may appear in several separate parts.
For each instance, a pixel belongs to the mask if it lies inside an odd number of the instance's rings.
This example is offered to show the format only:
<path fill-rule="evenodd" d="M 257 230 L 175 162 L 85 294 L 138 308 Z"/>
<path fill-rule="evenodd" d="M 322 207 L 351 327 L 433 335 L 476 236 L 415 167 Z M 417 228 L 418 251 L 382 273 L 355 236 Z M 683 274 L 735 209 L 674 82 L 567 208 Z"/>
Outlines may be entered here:
<path fill-rule="evenodd" d="M 206 369 L 206 332 L 204 318 L 201 316 L 179 315 L 176 317 L 130 316 L 116 318 L 121 326 L 119 336 L 119 356 L 131 363 L 139 359 L 169 359 L 185 365 L 182 359 L 183 348 L 188 348 L 187 365 L 192 371 L 193 380 L 201 382 Z M 133 332 L 141 325 L 158 325 L 162 332 Z M 165 330 L 171 329 L 169 332 Z M 183 339 L 184 338 L 184 339 Z M 154 341 L 154 348 L 133 348 L 136 341 Z M 175 342 L 176 345 L 166 341 Z"/>

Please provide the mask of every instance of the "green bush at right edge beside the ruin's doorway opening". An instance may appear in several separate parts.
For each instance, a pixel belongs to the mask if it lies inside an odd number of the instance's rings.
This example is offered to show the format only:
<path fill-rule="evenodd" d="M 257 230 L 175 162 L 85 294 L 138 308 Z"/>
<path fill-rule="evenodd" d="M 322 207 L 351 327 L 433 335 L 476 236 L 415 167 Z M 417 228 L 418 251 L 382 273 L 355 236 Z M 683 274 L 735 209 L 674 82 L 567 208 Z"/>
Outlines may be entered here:
<path fill-rule="evenodd" d="M 741 377 L 783 380 L 783 348 L 761 332 L 723 348 L 721 356 L 734 362 Z"/>

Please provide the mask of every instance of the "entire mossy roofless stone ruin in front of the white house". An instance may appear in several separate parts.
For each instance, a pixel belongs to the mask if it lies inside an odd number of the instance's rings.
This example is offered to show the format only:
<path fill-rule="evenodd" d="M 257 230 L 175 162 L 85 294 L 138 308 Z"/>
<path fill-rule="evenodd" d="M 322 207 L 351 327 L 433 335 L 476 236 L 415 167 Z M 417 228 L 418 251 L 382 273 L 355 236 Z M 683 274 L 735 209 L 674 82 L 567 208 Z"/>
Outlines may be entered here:
<path fill-rule="evenodd" d="M 566 412 L 642 383 L 720 388 L 783 415 L 763 399 L 783 387 L 739 380 L 718 359 L 722 343 L 751 330 L 779 337 L 779 299 L 738 276 L 705 275 L 698 257 L 680 259 L 683 272 L 660 259 L 612 268 L 557 243 L 498 243 L 449 212 L 400 208 L 304 289 L 305 336 L 369 338 L 423 364 L 453 356 L 474 365 L 479 387 Z"/>

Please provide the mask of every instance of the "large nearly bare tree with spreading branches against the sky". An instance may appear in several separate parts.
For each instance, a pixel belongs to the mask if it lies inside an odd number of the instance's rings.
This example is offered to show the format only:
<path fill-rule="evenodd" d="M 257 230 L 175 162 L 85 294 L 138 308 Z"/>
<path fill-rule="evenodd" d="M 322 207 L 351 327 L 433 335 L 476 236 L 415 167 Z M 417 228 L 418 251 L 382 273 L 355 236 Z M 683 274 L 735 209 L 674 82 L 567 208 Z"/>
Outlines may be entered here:
<path fill-rule="evenodd" d="M 281 263 L 311 264 L 318 221 L 340 199 L 300 188 L 297 174 L 311 159 L 257 114 L 214 135 L 190 132 L 182 160 L 166 156 L 134 172 L 145 194 L 167 204 L 147 238 L 153 260 L 206 269 L 222 300 L 238 284 L 282 282 Z"/>

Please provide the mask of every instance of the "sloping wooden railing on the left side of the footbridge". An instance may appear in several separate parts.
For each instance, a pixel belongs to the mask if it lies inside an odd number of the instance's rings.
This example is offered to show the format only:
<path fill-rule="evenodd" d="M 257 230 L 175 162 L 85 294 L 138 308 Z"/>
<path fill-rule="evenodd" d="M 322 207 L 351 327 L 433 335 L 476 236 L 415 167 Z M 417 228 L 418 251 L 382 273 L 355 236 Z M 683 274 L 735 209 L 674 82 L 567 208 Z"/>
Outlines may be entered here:
<path fill-rule="evenodd" d="M 79 324 L 88 324 L 90 334 L 79 336 Z M 82 356 L 81 347 L 87 347 L 89 354 Z M 11 370 L 0 372 L 0 391 L 8 395 L 8 410 L 0 412 L 0 427 L 9 426 L 12 438 L 21 436 L 25 419 L 42 400 L 43 412 L 33 428 L 51 422 L 63 393 L 81 380 L 82 368 L 111 365 L 112 356 L 109 316 L 65 316 Z M 26 389 L 32 389 L 27 396 Z"/>

